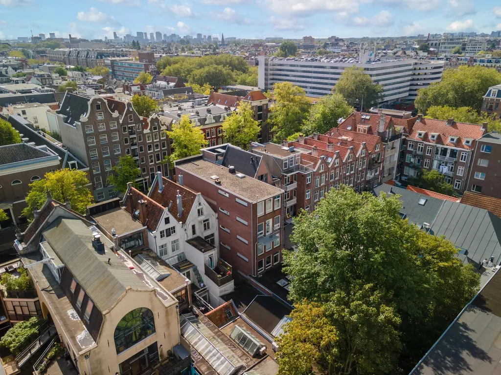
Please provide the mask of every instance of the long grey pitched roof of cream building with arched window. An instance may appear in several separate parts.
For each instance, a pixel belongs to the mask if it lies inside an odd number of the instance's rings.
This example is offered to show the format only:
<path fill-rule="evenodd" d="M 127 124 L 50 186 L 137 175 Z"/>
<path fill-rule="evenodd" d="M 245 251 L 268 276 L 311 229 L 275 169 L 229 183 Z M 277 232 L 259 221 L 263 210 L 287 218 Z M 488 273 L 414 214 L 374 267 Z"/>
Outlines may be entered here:
<path fill-rule="evenodd" d="M 150 290 L 106 246 L 106 242 L 105 251 L 94 249 L 92 231 L 83 221 L 59 217 L 44 229 L 43 234 L 101 312 L 109 310 L 127 286 Z M 111 258 L 110 263 L 108 258 Z"/>

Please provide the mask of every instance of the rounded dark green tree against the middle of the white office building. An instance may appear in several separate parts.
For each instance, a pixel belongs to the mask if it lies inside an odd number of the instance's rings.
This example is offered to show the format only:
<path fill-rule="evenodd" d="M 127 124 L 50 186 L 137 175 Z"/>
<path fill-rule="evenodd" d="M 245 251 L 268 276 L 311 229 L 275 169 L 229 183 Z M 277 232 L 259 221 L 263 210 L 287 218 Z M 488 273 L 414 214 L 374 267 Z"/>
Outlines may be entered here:
<path fill-rule="evenodd" d="M 383 86 L 374 83 L 363 68 L 355 66 L 344 69 L 332 92 L 340 93 L 348 104 L 360 106 L 361 110 L 362 106 L 370 108 L 383 98 Z"/>

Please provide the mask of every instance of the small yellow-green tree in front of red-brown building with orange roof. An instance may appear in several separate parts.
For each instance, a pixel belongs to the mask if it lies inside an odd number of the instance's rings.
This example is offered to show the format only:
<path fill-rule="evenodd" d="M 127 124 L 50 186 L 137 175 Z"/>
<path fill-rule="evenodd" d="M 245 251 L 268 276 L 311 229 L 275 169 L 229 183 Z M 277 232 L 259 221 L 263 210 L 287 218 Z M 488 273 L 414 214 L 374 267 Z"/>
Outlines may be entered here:
<path fill-rule="evenodd" d="M 254 119 L 254 111 L 247 102 L 240 102 L 237 110 L 222 123 L 226 142 L 242 149 L 247 149 L 249 142 L 258 140 L 259 130 L 259 122 Z"/>

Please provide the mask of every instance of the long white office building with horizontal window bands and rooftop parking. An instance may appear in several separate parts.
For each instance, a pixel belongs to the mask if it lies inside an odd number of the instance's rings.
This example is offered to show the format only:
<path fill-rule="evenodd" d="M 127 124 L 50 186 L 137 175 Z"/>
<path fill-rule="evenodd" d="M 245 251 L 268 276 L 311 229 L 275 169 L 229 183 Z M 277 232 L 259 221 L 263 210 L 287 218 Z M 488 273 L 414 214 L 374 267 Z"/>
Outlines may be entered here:
<path fill-rule="evenodd" d="M 258 56 L 258 60 L 260 89 L 271 89 L 274 83 L 289 81 L 303 87 L 308 96 L 320 97 L 331 93 L 344 69 L 357 66 L 384 87 L 384 102 L 415 99 L 419 88 L 439 82 L 443 72 L 443 61 L 374 61 L 372 53 L 361 53 L 360 58 Z"/>

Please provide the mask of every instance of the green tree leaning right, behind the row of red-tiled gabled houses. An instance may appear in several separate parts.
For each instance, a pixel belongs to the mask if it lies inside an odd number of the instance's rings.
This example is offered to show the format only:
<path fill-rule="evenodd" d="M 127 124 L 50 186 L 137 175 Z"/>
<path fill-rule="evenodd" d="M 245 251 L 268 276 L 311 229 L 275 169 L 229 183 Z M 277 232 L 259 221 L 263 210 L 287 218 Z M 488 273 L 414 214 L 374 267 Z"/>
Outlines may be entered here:
<path fill-rule="evenodd" d="M 337 127 L 338 119 L 348 117 L 354 109 L 339 93 L 325 95 L 311 106 L 303 124 L 303 132 L 307 135 L 314 132 L 324 134 L 333 127 Z"/>

